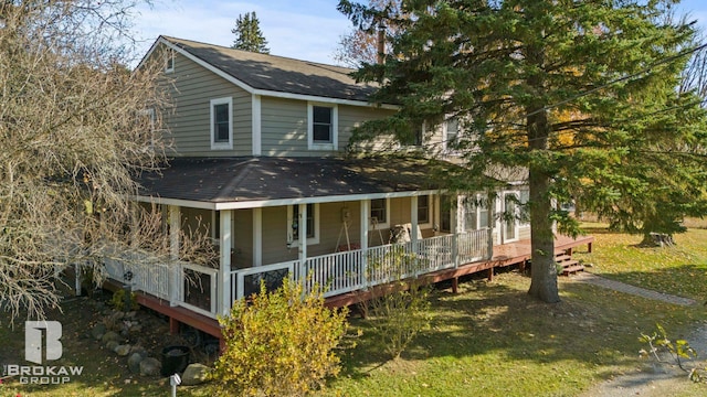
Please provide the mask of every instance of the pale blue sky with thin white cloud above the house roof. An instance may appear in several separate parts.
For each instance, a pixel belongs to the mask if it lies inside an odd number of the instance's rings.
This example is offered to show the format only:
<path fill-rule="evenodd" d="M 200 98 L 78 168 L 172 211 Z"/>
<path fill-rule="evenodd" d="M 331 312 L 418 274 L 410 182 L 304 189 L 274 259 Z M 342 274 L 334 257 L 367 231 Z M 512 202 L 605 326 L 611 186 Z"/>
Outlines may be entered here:
<path fill-rule="evenodd" d="M 367 1 L 360 1 L 367 2 Z M 336 10 L 338 0 L 155 0 L 139 9 L 136 31 L 146 53 L 158 35 L 230 46 L 239 14 L 255 11 L 271 54 L 334 63 L 341 35 L 351 23 Z M 688 11 L 707 30 L 707 0 L 684 0 Z"/>

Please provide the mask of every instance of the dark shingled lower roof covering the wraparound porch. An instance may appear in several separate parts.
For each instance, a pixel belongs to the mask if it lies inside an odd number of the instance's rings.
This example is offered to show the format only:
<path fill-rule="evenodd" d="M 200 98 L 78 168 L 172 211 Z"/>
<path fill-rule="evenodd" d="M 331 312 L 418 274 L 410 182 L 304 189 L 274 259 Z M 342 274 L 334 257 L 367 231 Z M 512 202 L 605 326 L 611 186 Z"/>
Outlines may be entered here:
<path fill-rule="evenodd" d="M 245 204 L 441 189 L 431 171 L 428 160 L 388 157 L 176 158 L 138 182 L 143 197 Z"/>

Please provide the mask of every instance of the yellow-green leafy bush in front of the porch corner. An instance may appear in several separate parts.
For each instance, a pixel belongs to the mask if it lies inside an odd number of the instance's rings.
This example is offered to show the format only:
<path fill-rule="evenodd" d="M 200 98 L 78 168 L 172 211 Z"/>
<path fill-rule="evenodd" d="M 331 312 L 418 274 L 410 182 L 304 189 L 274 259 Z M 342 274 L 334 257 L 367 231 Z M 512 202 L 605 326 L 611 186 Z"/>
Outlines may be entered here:
<path fill-rule="evenodd" d="M 273 292 L 261 285 L 250 301 L 238 300 L 220 318 L 225 351 L 212 378 L 219 391 L 241 396 L 300 396 L 336 376 L 334 350 L 347 329 L 347 310 L 330 310 L 320 293 L 285 280 Z"/>

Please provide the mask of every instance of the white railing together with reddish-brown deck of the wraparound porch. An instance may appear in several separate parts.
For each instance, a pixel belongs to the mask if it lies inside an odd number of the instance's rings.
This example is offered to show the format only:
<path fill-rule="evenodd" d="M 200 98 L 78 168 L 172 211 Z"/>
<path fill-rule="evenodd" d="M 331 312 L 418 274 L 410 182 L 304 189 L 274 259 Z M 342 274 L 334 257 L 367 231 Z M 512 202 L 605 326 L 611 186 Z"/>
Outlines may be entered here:
<path fill-rule="evenodd" d="M 218 298 L 228 302 L 256 292 L 261 280 L 267 288 L 276 288 L 285 277 L 304 282 L 312 290 L 320 288 L 329 307 L 346 307 L 370 299 L 370 291 L 395 280 L 410 277 L 428 282 L 452 280 L 453 289 L 460 277 L 518 265 L 525 267 L 530 259 L 530 240 L 496 245 L 488 244 L 490 229 L 445 235 L 411 243 L 389 244 L 335 253 L 298 260 L 232 270 L 226 282 L 220 280 L 215 269 L 188 265 L 170 271 L 167 267 L 144 269 L 131 273 L 131 288 L 138 302 L 170 318 L 172 332 L 183 323 L 221 337 L 217 315 Z M 558 236 L 556 251 L 569 253 L 585 246 L 591 251 L 592 236 L 571 238 Z M 404 266 L 393 264 L 395 258 L 408 258 Z M 107 267 L 113 281 L 124 280 L 124 268 L 118 264 Z M 175 277 L 177 282 L 160 282 Z M 120 281 L 123 283 L 125 281 Z M 226 298 L 228 297 L 228 298 Z M 230 310 L 230 304 L 228 307 Z"/>

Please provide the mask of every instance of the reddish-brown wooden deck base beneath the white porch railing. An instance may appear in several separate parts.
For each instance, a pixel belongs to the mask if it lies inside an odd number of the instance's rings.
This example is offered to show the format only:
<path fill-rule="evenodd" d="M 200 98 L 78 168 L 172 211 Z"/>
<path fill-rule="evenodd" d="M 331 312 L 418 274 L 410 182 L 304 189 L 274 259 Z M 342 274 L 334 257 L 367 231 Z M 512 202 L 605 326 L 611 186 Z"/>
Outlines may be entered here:
<path fill-rule="evenodd" d="M 594 237 L 592 236 L 578 237 L 577 239 L 567 236 L 559 236 L 555 242 L 555 248 L 556 251 L 567 251 L 571 255 L 571 251 L 572 249 L 574 249 L 574 247 L 587 246 L 588 251 L 591 253 L 593 242 Z M 492 259 L 472 264 L 464 264 L 457 268 L 434 271 L 423 275 L 421 276 L 421 278 L 423 278 L 424 282 L 440 282 L 452 280 L 453 290 L 454 292 L 456 292 L 457 281 L 462 276 L 486 270 L 488 271 L 488 278 L 490 279 L 493 278 L 495 268 L 502 268 L 511 265 L 519 265 L 521 268 L 524 268 L 529 259 L 530 240 L 519 240 L 515 243 L 494 246 Z M 116 290 L 120 288 L 120 285 L 117 283 L 117 281 L 109 281 L 106 287 L 108 289 Z M 379 289 L 390 289 L 390 285 L 374 287 L 369 290 L 359 290 L 329 297 L 326 299 L 325 304 L 330 308 L 348 307 L 369 300 L 374 292 L 379 292 Z M 172 307 L 168 301 L 165 301 L 163 299 L 159 299 L 157 297 L 152 297 L 148 293 L 138 292 L 137 300 L 141 305 L 169 316 L 170 332 L 177 333 L 179 332 L 180 324 L 187 324 L 210 335 L 219 337 L 223 345 L 223 340 L 221 339 L 221 326 L 217 320 L 196 313 L 186 308 Z"/>

